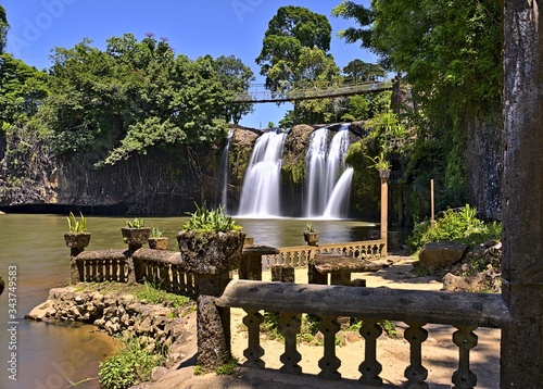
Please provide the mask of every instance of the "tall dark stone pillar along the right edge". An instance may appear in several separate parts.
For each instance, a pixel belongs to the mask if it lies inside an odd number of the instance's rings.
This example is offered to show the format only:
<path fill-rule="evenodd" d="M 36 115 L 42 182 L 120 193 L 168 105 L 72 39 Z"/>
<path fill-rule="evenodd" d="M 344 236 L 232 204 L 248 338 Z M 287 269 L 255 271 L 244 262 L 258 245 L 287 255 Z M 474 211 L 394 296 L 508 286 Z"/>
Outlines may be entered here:
<path fill-rule="evenodd" d="M 543 382 L 543 14 L 504 0 L 503 298 L 501 387 Z"/>

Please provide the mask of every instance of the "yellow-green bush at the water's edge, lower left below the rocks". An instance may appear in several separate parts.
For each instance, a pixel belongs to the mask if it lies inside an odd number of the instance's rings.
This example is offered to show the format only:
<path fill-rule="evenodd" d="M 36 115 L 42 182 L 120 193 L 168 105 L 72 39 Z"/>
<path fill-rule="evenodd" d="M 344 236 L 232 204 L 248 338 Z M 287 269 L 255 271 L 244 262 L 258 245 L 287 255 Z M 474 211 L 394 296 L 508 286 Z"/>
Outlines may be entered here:
<path fill-rule="evenodd" d="M 100 385 L 104 389 L 130 388 L 150 380 L 153 367 L 164 361 L 164 355 L 149 352 L 137 338 L 128 339 L 121 352 L 100 363 Z"/>

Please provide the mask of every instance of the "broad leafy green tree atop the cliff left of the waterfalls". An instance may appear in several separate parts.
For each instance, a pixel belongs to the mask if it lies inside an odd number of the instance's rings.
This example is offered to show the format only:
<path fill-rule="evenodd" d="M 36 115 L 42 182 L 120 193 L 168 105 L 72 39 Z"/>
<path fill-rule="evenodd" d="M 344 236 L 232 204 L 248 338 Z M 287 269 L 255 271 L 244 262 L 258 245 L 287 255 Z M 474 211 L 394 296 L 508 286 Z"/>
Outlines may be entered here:
<path fill-rule="evenodd" d="M 175 57 L 152 34 L 111 38 L 105 51 L 90 43 L 52 55 L 51 95 L 36 122 L 56 153 L 114 164 L 151 148 L 224 138 L 227 95 L 211 57 Z"/>

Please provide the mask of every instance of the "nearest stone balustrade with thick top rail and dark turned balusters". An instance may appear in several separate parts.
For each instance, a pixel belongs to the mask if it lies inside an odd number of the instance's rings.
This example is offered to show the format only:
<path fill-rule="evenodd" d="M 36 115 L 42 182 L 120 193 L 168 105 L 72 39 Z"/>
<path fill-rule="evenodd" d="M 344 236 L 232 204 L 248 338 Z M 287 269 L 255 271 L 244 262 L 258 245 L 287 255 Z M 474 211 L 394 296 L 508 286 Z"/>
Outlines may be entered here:
<path fill-rule="evenodd" d="M 280 356 L 283 373 L 301 374 L 298 364 L 302 355 L 296 349 L 296 335 L 301 314 L 317 315 L 318 329 L 324 336 L 321 368 L 318 376 L 340 379 L 341 361 L 336 355 L 336 334 L 340 329 L 339 316 L 363 319 L 359 329 L 365 339 L 364 359 L 361 360 L 361 384 L 381 386 L 381 364 L 377 359 L 377 340 L 382 332 L 379 321 L 400 321 L 407 324 L 405 339 L 411 347 L 411 365 L 405 369 L 406 388 L 425 388 L 428 371 L 422 365 L 422 342 L 428 337 L 426 324 L 447 324 L 456 328 L 453 342 L 458 347 L 458 369 L 452 381 L 456 388 L 472 388 L 477 376 L 469 369 L 469 351 L 477 346 L 477 327 L 503 327 L 510 315 L 500 294 L 414 291 L 386 288 L 356 288 L 344 286 L 296 285 L 287 283 L 231 281 L 220 298 L 222 308 L 243 309 L 247 316 L 248 348 L 243 355 L 252 367 L 265 367 L 265 350 L 260 343 L 260 311 L 278 312 L 285 336 L 285 353 Z M 353 355 L 354 356 L 354 355 Z"/>

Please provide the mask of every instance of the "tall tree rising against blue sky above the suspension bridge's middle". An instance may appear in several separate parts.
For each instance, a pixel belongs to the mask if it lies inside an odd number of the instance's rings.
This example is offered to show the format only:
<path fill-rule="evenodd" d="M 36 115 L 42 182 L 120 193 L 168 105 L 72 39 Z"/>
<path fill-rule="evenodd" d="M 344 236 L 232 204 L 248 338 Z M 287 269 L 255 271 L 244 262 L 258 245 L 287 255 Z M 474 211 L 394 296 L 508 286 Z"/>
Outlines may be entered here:
<path fill-rule="evenodd" d="M 299 77 L 294 73 L 302 49 L 330 50 L 331 26 L 325 15 L 303 7 L 281 7 L 269 21 L 263 48 L 256 58 L 266 88 L 286 91 Z"/>

